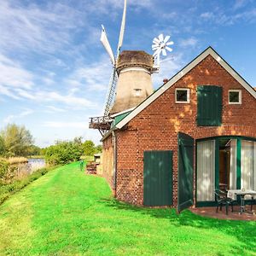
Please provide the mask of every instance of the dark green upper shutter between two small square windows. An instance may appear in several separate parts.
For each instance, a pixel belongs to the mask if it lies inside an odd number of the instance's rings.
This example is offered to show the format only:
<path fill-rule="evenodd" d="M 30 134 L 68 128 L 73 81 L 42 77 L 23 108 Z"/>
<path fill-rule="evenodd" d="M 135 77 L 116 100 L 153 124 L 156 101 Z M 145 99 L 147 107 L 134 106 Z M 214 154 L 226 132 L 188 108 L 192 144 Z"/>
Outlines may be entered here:
<path fill-rule="evenodd" d="M 203 85 L 197 87 L 197 125 L 222 124 L 222 87 Z"/>

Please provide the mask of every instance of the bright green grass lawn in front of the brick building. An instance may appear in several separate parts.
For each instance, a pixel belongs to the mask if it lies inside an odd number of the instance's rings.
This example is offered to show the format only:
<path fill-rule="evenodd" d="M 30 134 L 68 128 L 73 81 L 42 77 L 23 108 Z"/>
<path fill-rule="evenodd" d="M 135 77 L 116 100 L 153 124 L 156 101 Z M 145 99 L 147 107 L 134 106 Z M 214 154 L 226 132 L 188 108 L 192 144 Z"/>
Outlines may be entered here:
<path fill-rule="evenodd" d="M 113 201 L 79 164 L 40 177 L 0 206 L 0 255 L 256 255 L 256 222 Z"/>

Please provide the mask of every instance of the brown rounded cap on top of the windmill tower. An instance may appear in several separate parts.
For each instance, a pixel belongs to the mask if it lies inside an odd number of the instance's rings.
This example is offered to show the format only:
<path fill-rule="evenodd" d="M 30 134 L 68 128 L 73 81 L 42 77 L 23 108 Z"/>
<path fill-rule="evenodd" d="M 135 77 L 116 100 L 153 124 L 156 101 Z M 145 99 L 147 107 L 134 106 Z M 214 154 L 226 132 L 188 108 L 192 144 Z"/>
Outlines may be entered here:
<path fill-rule="evenodd" d="M 143 50 L 124 50 L 117 61 L 118 71 L 125 67 L 145 67 L 151 70 L 153 67 L 153 56 Z"/>

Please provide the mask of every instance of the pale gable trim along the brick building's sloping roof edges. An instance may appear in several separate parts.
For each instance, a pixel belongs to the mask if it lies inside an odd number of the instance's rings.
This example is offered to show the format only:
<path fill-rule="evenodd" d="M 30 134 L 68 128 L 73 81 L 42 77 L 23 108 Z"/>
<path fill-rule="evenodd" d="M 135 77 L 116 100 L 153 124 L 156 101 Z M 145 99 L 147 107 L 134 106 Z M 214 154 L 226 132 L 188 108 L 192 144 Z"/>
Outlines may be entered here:
<path fill-rule="evenodd" d="M 211 55 L 216 61 L 218 61 L 218 64 L 220 64 L 224 69 L 230 73 L 230 75 L 236 79 L 255 99 L 256 99 L 256 90 L 253 89 L 253 87 L 247 83 L 245 79 L 241 77 L 239 73 L 236 72 L 233 67 L 231 67 L 224 59 L 218 55 L 218 53 L 212 49 L 212 47 L 208 47 L 205 49 L 200 55 L 198 55 L 193 61 L 191 61 L 186 67 L 183 67 L 181 71 L 179 71 L 176 75 L 172 77 L 166 84 L 163 84 L 158 90 L 156 90 L 151 96 L 148 96 L 146 100 L 144 100 L 141 104 L 137 106 L 137 108 L 134 108 L 131 113 L 129 113 L 127 116 L 125 116 L 124 119 L 121 119 L 118 124 L 115 125 L 117 129 L 121 129 L 124 127 L 128 122 L 131 121 L 134 117 L 137 116 L 138 113 L 141 113 L 143 109 L 147 108 L 149 104 L 154 102 L 159 96 L 161 96 L 166 90 L 168 90 L 170 87 L 172 87 L 173 84 L 177 82 L 177 80 L 181 79 L 185 74 L 189 73 L 189 71 L 195 67 L 197 64 L 199 64 L 201 61 L 203 61 L 208 55 Z M 104 138 L 102 138 L 104 140 Z"/>

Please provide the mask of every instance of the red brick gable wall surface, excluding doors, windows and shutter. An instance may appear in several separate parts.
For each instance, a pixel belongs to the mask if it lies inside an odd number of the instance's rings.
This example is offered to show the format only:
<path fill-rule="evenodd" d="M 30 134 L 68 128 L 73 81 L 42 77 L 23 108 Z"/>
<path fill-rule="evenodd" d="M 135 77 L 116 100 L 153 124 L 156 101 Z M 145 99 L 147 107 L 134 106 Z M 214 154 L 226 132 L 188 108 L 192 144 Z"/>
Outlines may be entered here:
<path fill-rule="evenodd" d="M 198 85 L 223 86 L 223 124 L 196 125 Z M 190 89 L 190 103 L 175 103 L 175 88 Z M 241 105 L 228 104 L 228 90 L 240 89 Z M 212 56 L 207 58 L 127 125 L 116 131 L 118 143 L 117 198 L 143 205 L 143 151 L 173 150 L 173 202 L 177 205 L 177 132 L 195 139 L 216 136 L 256 137 L 256 100 Z"/>

